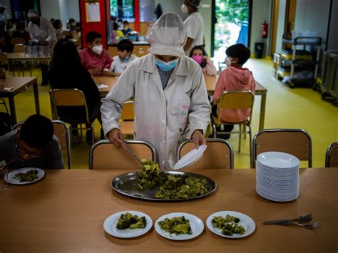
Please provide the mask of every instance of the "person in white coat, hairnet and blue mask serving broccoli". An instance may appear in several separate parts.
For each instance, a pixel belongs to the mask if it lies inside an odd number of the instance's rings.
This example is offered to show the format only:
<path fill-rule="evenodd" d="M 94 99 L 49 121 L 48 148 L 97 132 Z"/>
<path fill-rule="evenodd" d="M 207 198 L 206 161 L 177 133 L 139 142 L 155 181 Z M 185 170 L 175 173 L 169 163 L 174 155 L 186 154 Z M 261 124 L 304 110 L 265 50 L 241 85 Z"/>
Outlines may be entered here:
<path fill-rule="evenodd" d="M 181 141 L 192 139 L 195 148 L 205 144 L 210 103 L 202 69 L 184 56 L 187 31 L 180 16 L 163 14 L 146 37 L 149 54 L 130 63 L 102 99 L 103 130 L 108 140 L 126 148 L 118 120 L 123 102 L 133 98 L 135 139 L 150 142 L 161 170 L 170 170 Z"/>

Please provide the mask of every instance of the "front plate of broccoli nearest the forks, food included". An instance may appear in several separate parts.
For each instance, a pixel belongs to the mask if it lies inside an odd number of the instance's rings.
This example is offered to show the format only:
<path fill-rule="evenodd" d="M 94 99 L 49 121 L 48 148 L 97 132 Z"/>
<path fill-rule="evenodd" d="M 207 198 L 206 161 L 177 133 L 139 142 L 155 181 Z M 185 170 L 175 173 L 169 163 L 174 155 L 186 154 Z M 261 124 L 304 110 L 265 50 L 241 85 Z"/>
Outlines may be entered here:
<path fill-rule="evenodd" d="M 256 227 L 251 217 L 234 211 L 215 212 L 205 223 L 211 232 L 227 238 L 247 237 Z"/>

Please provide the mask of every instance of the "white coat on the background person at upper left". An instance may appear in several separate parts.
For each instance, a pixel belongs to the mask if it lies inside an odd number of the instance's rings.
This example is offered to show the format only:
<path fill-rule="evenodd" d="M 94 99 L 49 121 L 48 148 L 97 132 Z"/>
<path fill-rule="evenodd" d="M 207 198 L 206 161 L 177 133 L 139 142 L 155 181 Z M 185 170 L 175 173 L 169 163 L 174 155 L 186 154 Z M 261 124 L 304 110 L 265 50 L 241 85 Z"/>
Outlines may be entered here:
<path fill-rule="evenodd" d="M 41 16 L 40 26 L 36 26 L 36 24 L 29 22 L 28 29 L 32 41 L 40 43 L 47 41 L 51 47 L 55 45 L 57 41 L 56 32 L 48 19 Z"/>

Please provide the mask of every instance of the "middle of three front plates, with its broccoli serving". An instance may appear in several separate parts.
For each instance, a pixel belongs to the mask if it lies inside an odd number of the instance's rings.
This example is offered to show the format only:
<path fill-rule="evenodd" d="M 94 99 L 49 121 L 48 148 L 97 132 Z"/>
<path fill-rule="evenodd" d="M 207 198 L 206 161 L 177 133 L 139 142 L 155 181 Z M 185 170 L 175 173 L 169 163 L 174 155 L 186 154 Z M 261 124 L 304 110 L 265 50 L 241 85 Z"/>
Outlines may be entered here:
<path fill-rule="evenodd" d="M 173 240 L 187 240 L 198 237 L 204 224 L 200 218 L 185 212 L 172 212 L 159 217 L 155 230 L 160 236 Z"/>

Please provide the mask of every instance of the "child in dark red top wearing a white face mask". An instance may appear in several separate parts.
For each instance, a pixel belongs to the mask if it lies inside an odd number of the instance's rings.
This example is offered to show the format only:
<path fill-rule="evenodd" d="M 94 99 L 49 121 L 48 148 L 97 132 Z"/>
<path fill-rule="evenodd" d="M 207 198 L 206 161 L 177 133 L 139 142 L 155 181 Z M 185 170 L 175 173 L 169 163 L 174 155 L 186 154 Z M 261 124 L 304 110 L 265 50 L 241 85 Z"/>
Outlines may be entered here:
<path fill-rule="evenodd" d="M 102 35 L 96 31 L 90 31 L 86 35 L 88 47 L 80 51 L 80 59 L 92 76 L 101 76 L 103 68 L 111 62 L 108 51 L 103 49 Z"/>

